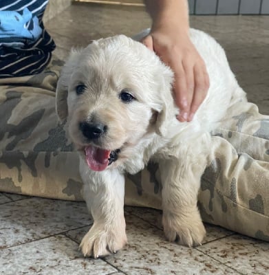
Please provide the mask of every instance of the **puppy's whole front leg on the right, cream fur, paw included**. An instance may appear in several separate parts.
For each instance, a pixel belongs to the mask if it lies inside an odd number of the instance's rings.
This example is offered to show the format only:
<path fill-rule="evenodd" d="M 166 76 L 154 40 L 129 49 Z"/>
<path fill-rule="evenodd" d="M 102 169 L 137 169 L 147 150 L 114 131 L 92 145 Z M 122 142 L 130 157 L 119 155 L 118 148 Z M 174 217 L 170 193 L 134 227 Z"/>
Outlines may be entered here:
<path fill-rule="evenodd" d="M 197 146 L 197 144 L 195 144 Z M 206 167 L 206 156 L 191 147 L 179 152 L 184 159 L 171 158 L 160 162 L 162 178 L 162 223 L 169 241 L 186 246 L 201 245 L 206 234 L 197 195 Z"/>

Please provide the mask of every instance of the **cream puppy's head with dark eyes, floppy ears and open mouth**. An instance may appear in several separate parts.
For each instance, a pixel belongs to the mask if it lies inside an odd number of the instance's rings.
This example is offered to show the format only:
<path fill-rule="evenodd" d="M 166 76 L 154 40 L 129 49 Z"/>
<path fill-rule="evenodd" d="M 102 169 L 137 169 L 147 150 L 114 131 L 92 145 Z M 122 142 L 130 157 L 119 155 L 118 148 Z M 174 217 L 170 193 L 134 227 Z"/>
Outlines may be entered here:
<path fill-rule="evenodd" d="M 153 52 L 123 35 L 70 54 L 58 80 L 56 111 L 67 118 L 69 135 L 92 170 L 124 161 L 154 132 L 165 135 L 174 115 L 172 78 Z"/>

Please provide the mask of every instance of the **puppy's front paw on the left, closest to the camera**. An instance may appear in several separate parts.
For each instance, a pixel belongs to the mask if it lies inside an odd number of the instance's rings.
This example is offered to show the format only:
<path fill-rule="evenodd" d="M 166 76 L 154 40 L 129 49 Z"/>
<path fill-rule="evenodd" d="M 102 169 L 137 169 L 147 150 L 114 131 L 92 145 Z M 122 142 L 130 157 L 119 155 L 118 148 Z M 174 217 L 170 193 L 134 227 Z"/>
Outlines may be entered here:
<path fill-rule="evenodd" d="M 85 234 L 80 243 L 80 249 L 84 256 L 94 256 L 94 258 L 98 258 L 116 253 L 127 243 L 125 228 L 118 231 L 106 231 L 104 228 L 105 225 L 100 227 L 94 224 L 89 232 Z"/>

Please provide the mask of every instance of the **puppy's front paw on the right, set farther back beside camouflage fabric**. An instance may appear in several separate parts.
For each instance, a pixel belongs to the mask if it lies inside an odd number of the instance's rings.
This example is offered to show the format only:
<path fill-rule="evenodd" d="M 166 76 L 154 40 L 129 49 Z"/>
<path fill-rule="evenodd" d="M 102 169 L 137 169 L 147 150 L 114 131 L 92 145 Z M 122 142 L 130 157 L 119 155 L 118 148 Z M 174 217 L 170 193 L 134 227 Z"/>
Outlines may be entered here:
<path fill-rule="evenodd" d="M 177 240 L 181 245 L 189 247 L 201 245 L 206 235 L 198 210 L 187 215 L 165 212 L 162 223 L 166 238 L 169 241 Z"/>

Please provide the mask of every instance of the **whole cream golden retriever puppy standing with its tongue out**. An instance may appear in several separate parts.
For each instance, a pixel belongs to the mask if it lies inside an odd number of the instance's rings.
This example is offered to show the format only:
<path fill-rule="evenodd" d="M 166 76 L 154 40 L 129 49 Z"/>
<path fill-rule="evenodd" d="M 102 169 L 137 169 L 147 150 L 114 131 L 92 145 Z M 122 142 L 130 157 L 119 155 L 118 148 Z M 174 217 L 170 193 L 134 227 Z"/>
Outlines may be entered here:
<path fill-rule="evenodd" d="M 162 223 L 169 241 L 200 245 L 206 234 L 197 209 L 210 132 L 233 100 L 246 100 L 222 47 L 191 30 L 210 78 L 206 99 L 191 122 L 179 122 L 171 69 L 142 43 L 124 35 L 72 51 L 58 80 L 56 111 L 67 119 L 80 154 L 84 197 L 94 224 L 80 248 L 105 256 L 127 243 L 123 212 L 125 173 L 151 159 L 162 180 Z"/>

